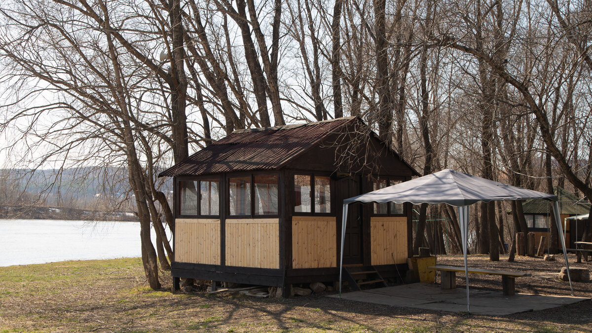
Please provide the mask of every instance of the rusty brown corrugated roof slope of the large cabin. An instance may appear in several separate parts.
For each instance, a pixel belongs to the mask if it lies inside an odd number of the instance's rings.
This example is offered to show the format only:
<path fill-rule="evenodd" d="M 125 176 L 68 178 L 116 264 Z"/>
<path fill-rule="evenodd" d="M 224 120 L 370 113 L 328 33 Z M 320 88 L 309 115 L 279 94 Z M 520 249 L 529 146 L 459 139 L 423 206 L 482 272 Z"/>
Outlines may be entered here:
<path fill-rule="evenodd" d="M 358 117 L 236 130 L 160 172 L 159 177 L 277 169 Z"/>

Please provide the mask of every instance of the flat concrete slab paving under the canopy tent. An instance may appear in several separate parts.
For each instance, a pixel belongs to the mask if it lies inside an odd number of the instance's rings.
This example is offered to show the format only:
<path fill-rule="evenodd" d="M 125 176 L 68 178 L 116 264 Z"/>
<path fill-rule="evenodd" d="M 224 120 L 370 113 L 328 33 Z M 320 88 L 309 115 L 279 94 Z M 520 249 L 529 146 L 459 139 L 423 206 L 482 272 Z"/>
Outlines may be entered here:
<path fill-rule="evenodd" d="M 331 295 L 329 297 L 339 297 Z M 342 298 L 359 302 L 375 303 L 408 308 L 429 309 L 448 312 L 466 311 L 466 289 L 443 290 L 436 284 L 412 283 L 401 286 L 343 293 Z M 501 290 L 469 289 L 471 313 L 481 315 L 510 315 L 511 313 L 555 308 L 586 300 L 585 297 L 515 294 L 504 296 Z"/>

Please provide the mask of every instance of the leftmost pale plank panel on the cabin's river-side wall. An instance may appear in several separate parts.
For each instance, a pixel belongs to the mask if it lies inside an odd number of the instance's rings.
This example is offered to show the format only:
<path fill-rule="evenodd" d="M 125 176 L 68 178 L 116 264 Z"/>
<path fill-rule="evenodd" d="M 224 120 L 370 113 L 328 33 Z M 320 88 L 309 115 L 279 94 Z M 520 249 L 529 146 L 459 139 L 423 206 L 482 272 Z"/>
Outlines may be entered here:
<path fill-rule="evenodd" d="M 175 260 L 220 264 L 220 220 L 176 219 Z"/>

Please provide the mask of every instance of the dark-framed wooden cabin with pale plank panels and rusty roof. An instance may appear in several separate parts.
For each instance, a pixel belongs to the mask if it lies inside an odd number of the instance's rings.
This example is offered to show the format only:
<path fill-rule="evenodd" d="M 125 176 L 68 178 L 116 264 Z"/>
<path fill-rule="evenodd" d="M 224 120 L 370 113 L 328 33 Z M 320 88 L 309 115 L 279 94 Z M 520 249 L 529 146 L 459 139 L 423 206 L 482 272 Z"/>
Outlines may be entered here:
<path fill-rule="evenodd" d="M 284 287 L 339 280 L 343 199 L 419 175 L 359 117 L 237 130 L 174 179 L 172 276 Z M 410 204 L 354 204 L 344 264 L 405 276 Z"/>

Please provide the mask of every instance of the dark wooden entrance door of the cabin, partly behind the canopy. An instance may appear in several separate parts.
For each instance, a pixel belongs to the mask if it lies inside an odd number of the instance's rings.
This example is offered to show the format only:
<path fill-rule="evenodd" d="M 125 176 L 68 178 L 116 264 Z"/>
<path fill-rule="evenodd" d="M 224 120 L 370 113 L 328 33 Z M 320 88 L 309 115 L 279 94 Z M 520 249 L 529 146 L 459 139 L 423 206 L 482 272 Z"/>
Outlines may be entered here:
<path fill-rule="evenodd" d="M 343 200 L 362 194 L 359 177 L 347 177 L 337 181 L 340 211 L 343 211 Z M 350 204 L 348 207 L 348 225 L 345 229 L 345 244 L 343 245 L 343 264 L 363 263 L 363 229 L 362 205 Z M 342 219 L 339 219 L 342 223 Z M 339 239 L 341 241 L 341 239 Z"/>

